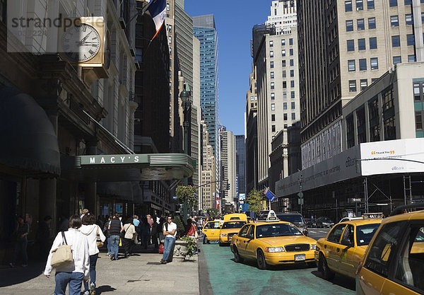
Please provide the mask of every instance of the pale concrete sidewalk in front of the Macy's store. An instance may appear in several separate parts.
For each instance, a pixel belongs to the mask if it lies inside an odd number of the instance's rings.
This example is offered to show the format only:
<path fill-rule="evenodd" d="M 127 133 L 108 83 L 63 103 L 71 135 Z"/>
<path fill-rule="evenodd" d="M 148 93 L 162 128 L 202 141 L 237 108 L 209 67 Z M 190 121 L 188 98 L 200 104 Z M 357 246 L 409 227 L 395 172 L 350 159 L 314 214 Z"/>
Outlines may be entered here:
<path fill-rule="evenodd" d="M 162 255 L 152 251 L 136 245 L 136 254 L 130 258 L 120 254 L 122 259 L 117 261 L 110 260 L 105 252 L 99 253 L 96 294 L 199 294 L 197 255 L 190 261 L 162 265 Z M 54 294 L 54 272 L 47 279 L 42 274 L 44 268 L 45 262 L 34 261 L 28 267 L 0 265 L 0 294 Z"/>

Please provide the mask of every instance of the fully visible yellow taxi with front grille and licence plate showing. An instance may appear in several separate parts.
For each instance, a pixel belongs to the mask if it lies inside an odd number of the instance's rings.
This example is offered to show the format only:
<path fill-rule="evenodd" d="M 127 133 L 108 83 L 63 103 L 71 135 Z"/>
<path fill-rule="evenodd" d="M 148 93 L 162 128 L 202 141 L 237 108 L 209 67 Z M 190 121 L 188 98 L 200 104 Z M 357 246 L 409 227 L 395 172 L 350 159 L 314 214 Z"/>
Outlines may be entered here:
<path fill-rule="evenodd" d="M 314 262 L 316 243 L 290 222 L 279 221 L 271 210 L 266 221 L 245 224 L 232 236 L 230 247 L 235 262 L 257 260 L 264 270 L 269 265 Z"/>

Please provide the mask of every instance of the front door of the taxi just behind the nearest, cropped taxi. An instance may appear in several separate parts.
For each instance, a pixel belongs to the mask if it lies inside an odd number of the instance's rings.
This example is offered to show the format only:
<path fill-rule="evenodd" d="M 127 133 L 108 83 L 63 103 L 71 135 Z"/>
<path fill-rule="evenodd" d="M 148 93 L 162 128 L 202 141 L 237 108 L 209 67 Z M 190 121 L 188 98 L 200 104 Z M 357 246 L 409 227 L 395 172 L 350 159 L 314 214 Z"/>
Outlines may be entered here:
<path fill-rule="evenodd" d="M 348 277 L 355 277 L 356 269 L 353 263 L 355 258 L 355 227 L 352 224 L 346 226 L 340 245 L 337 246 L 338 272 Z M 358 264 L 356 265 L 358 267 Z"/>

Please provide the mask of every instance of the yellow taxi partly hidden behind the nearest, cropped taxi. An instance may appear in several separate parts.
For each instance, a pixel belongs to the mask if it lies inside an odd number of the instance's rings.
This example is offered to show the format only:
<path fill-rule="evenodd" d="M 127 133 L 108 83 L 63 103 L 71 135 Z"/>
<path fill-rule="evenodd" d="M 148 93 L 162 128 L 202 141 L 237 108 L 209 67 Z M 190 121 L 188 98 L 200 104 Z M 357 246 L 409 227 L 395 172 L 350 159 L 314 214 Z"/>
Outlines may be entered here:
<path fill-rule="evenodd" d="M 326 238 L 317 241 L 315 262 L 324 279 L 334 274 L 355 278 L 359 262 L 382 219 L 355 219 L 336 224 Z"/>

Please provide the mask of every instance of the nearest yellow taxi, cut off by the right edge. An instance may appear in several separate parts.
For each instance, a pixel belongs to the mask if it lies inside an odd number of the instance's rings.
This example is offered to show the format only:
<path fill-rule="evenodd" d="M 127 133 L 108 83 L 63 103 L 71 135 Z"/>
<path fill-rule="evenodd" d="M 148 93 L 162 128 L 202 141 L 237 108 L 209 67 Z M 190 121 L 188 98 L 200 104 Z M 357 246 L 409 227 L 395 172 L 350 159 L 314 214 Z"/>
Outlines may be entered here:
<path fill-rule="evenodd" d="M 424 211 L 398 207 L 382 221 L 356 273 L 358 295 L 424 294 Z"/>

